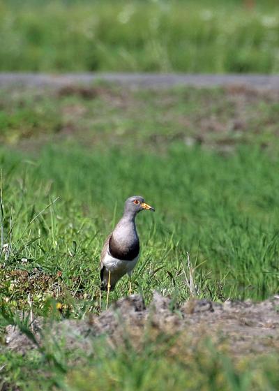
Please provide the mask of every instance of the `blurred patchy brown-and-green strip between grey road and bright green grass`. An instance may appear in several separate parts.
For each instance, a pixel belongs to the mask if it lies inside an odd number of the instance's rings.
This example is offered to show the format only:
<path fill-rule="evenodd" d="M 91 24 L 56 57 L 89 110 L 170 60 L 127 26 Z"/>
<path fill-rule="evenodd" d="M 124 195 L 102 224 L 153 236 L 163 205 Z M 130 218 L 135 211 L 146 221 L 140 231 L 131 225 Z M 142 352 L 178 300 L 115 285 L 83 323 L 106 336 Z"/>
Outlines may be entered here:
<path fill-rule="evenodd" d="M 68 139 L 159 151 L 172 142 L 220 152 L 241 144 L 266 147 L 278 135 L 278 100 L 279 89 L 245 84 L 148 91 L 132 84 L 9 87 L 0 96 L 0 141 L 28 150 Z"/>

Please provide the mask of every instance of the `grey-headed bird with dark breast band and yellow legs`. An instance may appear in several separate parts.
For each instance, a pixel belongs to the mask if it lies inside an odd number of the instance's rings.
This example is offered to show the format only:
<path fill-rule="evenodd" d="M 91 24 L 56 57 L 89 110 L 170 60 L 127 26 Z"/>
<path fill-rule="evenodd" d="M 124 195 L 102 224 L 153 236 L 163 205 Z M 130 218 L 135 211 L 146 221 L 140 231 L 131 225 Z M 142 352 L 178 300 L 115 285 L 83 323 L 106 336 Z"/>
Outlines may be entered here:
<path fill-rule="evenodd" d="M 125 274 L 129 277 L 132 275 L 140 257 L 140 239 L 135 217 L 144 209 L 155 212 L 140 195 L 129 197 L 125 202 L 123 216 L 103 245 L 100 256 L 100 289 L 107 290 L 107 304 L 110 291 L 114 290 L 117 281 Z M 129 292 L 131 293 L 131 283 Z"/>

